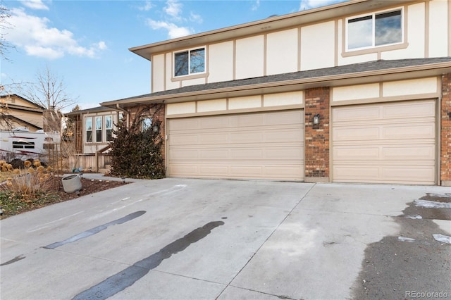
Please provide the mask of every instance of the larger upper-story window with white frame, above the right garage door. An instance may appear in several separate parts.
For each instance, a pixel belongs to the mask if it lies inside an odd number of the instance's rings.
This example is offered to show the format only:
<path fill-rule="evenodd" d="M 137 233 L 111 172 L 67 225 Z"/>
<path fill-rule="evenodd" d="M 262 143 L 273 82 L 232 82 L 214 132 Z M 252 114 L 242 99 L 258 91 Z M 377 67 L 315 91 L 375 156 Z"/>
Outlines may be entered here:
<path fill-rule="evenodd" d="M 347 18 L 347 50 L 403 42 L 402 9 Z"/>

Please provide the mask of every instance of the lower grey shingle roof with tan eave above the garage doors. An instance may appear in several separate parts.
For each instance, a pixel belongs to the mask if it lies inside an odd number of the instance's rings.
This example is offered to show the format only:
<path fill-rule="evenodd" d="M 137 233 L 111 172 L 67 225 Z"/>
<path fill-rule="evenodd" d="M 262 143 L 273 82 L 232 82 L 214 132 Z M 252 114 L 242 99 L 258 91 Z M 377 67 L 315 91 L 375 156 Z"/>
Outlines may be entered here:
<path fill-rule="evenodd" d="M 133 106 L 146 103 L 189 101 L 190 99 L 217 99 L 225 96 L 242 96 L 249 93 L 290 92 L 319 86 L 355 85 L 374 82 L 375 77 L 378 77 L 377 81 L 387 81 L 435 76 L 444 73 L 451 73 L 450 56 L 379 60 L 242 80 L 191 85 L 116 101 L 106 101 L 100 105 L 115 107 L 119 104 Z"/>

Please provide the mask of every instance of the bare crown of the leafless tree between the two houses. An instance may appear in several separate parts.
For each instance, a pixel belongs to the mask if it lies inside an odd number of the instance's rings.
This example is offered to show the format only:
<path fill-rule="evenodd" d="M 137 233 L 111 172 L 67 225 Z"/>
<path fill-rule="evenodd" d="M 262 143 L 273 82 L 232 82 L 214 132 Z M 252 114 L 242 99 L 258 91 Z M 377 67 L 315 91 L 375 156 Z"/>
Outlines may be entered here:
<path fill-rule="evenodd" d="M 75 99 L 66 94 L 63 79 L 52 73 L 49 66 L 37 72 L 37 82 L 26 85 L 23 94 L 33 103 L 56 111 L 75 104 Z"/>

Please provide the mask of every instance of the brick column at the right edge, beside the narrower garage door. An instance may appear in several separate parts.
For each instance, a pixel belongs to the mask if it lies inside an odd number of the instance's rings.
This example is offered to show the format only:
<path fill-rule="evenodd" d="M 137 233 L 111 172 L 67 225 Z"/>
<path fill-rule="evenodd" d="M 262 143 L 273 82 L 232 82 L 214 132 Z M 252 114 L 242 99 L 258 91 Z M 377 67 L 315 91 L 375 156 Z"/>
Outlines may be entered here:
<path fill-rule="evenodd" d="M 442 77 L 440 184 L 451 187 L 451 73 Z"/>

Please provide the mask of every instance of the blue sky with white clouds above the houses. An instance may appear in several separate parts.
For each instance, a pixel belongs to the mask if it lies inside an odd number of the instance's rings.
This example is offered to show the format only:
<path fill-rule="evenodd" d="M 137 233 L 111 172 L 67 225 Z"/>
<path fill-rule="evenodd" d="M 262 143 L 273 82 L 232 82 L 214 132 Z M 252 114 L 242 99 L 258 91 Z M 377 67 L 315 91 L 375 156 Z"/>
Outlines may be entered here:
<path fill-rule="evenodd" d="M 128 49 L 343 0 L 0 0 L 11 15 L 0 85 L 11 94 L 47 68 L 81 109 L 150 93 L 146 59 Z M 68 112 L 75 106 L 68 106 Z"/>

